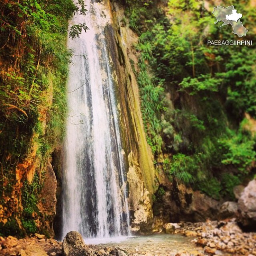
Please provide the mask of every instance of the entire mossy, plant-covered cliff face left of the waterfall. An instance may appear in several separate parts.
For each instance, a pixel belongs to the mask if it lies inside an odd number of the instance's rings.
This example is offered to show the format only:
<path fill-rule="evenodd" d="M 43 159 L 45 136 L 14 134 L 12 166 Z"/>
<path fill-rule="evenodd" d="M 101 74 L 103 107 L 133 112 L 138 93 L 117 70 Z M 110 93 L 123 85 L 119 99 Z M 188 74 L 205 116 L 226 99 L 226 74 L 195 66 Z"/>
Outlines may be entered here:
<path fill-rule="evenodd" d="M 24 6 L 31 14 L 29 17 L 24 14 Z M 20 5 L 6 4 L 2 9 L 3 22 L 10 24 L 10 29 L 1 31 L 0 42 L 3 71 L 0 168 L 4 170 L 0 171 L 0 233 L 3 235 L 19 236 L 45 229 L 53 236 L 53 216 L 52 220 L 49 217 L 45 220 L 41 211 L 47 208 L 46 196 L 40 198 L 40 188 L 34 185 L 42 185 L 44 167 L 65 134 L 63 113 L 71 57 L 66 40 L 68 20 L 76 10 L 72 0 L 61 1 L 58 6 L 52 1 L 35 0 L 33 4 L 23 1 Z M 18 18 L 10 18 L 10 14 Z M 33 28 L 29 24 L 34 24 Z M 22 33 L 17 33 L 20 26 Z M 35 174 L 38 180 L 33 181 Z M 49 202 L 55 204 L 55 196 Z M 52 212 L 54 215 L 55 210 Z"/>

